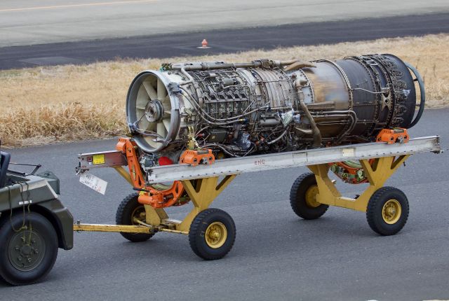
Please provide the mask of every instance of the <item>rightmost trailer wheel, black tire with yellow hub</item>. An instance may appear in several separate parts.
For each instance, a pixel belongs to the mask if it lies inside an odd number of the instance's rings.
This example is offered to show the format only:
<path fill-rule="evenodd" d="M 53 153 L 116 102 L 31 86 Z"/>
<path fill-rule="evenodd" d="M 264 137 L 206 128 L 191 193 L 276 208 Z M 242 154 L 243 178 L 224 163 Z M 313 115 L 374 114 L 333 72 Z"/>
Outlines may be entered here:
<path fill-rule="evenodd" d="M 395 235 L 406 225 L 408 200 L 406 195 L 394 187 L 377 189 L 368 201 L 366 220 L 380 235 Z"/>

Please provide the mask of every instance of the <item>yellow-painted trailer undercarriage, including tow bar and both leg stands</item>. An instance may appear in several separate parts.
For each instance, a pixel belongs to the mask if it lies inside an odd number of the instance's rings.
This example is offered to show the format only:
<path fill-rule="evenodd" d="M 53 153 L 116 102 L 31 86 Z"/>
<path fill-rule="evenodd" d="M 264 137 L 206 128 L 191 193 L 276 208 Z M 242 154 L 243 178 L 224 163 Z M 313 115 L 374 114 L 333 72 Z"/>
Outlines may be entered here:
<path fill-rule="evenodd" d="M 329 179 L 329 165 L 309 165 L 311 172 L 315 174 L 316 183 L 319 193 L 316 195 L 316 202 L 328 204 L 330 206 L 343 207 L 357 211 L 366 212 L 370 197 L 379 188 L 382 188 L 385 181 L 396 172 L 399 166 L 407 160 L 409 155 L 401 155 L 399 157 L 384 157 L 374 159 L 372 165 L 369 160 L 359 160 L 365 176 L 368 178 L 369 186 L 356 199 L 343 197 L 337 190 L 333 181 Z M 132 184 L 130 175 L 123 167 L 115 167 L 116 171 L 123 176 L 126 181 Z M 100 231 L 100 232 L 139 232 L 149 233 L 154 230 L 173 232 L 181 234 L 189 234 L 190 225 L 195 216 L 201 211 L 208 209 L 215 198 L 234 180 L 236 175 L 220 177 L 186 180 L 182 181 L 187 195 L 194 208 L 187 214 L 183 221 L 170 220 L 166 211 L 163 209 L 154 209 L 149 205 L 145 205 L 146 218 L 145 223 L 136 221 L 140 225 L 94 225 L 94 224 L 77 224 L 74 225 L 75 231 Z"/>

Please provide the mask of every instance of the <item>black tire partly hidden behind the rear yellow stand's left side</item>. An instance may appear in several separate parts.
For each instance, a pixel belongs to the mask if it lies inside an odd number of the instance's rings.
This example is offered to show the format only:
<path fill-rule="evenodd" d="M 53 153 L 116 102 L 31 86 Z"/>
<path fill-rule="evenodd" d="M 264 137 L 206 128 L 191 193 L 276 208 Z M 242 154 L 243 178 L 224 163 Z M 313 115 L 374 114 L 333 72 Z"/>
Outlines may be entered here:
<path fill-rule="evenodd" d="M 329 208 L 329 205 L 321 204 L 318 207 L 310 207 L 306 202 L 306 192 L 311 186 L 316 186 L 315 175 L 306 172 L 298 176 L 290 189 L 290 206 L 297 216 L 304 220 L 314 220 L 321 217 Z"/>

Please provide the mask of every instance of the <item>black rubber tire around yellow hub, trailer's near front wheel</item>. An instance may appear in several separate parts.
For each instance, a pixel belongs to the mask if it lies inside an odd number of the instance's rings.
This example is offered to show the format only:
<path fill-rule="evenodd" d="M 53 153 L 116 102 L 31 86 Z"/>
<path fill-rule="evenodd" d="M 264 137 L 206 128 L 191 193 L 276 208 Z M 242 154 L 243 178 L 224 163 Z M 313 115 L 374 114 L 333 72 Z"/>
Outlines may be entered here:
<path fill-rule="evenodd" d="M 212 248 L 206 242 L 206 230 L 210 224 L 215 222 L 222 223 L 227 230 L 225 243 L 219 248 Z M 192 221 L 192 225 L 190 225 L 190 247 L 196 255 L 205 260 L 217 260 L 225 257 L 231 251 L 232 246 L 234 246 L 235 239 L 236 225 L 234 220 L 229 214 L 220 209 L 210 208 L 201 211 Z"/>

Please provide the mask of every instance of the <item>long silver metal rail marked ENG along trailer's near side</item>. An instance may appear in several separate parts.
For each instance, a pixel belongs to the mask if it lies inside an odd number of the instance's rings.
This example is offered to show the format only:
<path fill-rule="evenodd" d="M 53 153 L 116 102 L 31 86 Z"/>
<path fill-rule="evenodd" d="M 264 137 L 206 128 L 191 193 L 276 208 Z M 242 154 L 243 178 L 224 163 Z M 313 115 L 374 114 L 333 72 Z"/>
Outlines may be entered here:
<path fill-rule="evenodd" d="M 415 153 L 440 153 L 438 136 L 410 139 L 406 144 L 368 143 L 351 146 L 318 148 L 309 151 L 294 151 L 269 155 L 216 160 L 213 165 L 166 165 L 154 167 L 147 172 L 148 183 L 201 179 L 212 176 L 227 176 L 246 172 L 317 165 L 344 160 L 363 160 Z"/>

